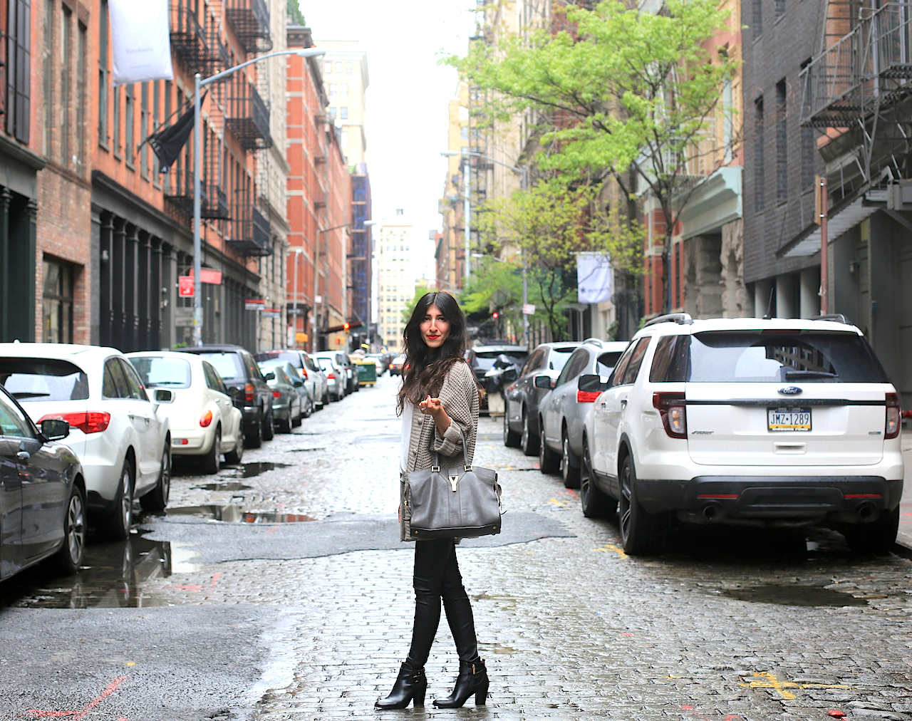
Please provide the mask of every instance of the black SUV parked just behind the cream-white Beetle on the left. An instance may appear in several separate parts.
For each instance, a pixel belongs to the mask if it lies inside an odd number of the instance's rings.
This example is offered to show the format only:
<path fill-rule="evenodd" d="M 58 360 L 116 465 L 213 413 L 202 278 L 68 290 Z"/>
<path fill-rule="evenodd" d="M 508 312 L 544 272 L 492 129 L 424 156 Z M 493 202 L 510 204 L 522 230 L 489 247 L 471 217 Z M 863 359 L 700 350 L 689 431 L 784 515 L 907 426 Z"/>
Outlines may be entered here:
<path fill-rule="evenodd" d="M 264 440 L 272 440 L 273 389 L 248 350 L 240 345 L 199 345 L 181 351 L 202 356 L 222 376 L 234 407 L 243 414 L 247 446 L 260 448 Z"/>

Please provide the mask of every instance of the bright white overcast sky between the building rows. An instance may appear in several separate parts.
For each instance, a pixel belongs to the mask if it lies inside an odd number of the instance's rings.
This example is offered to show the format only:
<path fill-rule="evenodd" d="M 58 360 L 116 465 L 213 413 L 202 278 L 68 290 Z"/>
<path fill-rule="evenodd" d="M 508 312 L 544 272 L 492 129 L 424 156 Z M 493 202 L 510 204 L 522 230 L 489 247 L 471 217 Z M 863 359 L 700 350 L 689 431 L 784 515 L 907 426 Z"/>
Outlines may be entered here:
<path fill-rule="evenodd" d="M 404 209 L 418 238 L 440 227 L 446 177 L 447 105 L 457 77 L 437 65 L 441 50 L 463 54 L 474 33 L 475 0 L 301 0 L 320 40 L 358 40 L 368 53 L 368 170 L 375 219 Z"/>

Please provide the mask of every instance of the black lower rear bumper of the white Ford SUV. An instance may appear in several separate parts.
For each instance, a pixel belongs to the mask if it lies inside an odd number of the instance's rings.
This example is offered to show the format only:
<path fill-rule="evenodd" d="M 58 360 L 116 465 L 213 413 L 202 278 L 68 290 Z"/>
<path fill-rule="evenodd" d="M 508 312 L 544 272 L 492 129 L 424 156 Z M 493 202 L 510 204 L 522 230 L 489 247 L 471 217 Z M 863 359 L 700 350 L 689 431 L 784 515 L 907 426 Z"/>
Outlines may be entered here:
<path fill-rule="evenodd" d="M 698 476 L 637 479 L 637 500 L 649 513 L 678 511 L 691 523 L 827 520 L 864 523 L 899 505 L 902 480 L 880 476 Z"/>

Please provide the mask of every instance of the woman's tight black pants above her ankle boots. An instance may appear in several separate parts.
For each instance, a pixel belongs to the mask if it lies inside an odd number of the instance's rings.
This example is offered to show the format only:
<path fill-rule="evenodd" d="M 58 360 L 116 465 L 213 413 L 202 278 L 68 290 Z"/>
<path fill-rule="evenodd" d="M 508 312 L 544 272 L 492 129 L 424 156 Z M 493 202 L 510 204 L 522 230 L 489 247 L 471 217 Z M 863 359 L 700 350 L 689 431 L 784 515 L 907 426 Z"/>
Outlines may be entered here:
<path fill-rule="evenodd" d="M 411 632 L 409 664 L 422 667 L 428 661 L 440 624 L 440 600 L 447 612 L 447 622 L 460 661 L 478 660 L 478 641 L 472 604 L 462 587 L 456 544 L 449 539 L 415 541 L 415 623 Z"/>

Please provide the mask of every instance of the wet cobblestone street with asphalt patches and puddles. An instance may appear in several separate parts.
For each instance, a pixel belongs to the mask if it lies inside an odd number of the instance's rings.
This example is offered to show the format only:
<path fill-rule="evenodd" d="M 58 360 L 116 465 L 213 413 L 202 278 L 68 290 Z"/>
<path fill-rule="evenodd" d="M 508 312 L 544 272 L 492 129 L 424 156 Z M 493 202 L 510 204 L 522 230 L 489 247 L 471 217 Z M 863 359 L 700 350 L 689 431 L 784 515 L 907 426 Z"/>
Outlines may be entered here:
<path fill-rule="evenodd" d="M 0 718 L 912 719 L 912 561 L 825 529 L 681 531 L 627 557 L 496 418 L 476 462 L 499 470 L 504 533 L 459 549 L 488 706 L 375 711 L 413 612 L 397 380 L 244 468 L 179 465 L 169 511 L 92 541 L 77 576 L 0 584 Z M 429 704 L 457 665 L 441 623 Z"/>

